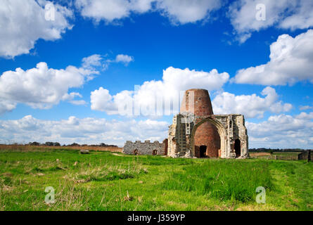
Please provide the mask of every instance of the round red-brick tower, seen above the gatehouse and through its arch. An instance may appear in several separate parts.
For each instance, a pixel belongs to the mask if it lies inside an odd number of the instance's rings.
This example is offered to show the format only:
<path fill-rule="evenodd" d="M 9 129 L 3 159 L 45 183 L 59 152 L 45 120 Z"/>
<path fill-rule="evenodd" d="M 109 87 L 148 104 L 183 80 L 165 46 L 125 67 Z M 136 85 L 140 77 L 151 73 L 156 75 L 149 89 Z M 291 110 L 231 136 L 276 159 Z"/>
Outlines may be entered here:
<path fill-rule="evenodd" d="M 181 102 L 181 113 L 195 116 L 213 115 L 209 92 L 205 89 L 189 89 Z M 210 122 L 201 124 L 195 134 L 195 156 L 198 158 L 218 158 L 221 140 L 215 125 Z"/>

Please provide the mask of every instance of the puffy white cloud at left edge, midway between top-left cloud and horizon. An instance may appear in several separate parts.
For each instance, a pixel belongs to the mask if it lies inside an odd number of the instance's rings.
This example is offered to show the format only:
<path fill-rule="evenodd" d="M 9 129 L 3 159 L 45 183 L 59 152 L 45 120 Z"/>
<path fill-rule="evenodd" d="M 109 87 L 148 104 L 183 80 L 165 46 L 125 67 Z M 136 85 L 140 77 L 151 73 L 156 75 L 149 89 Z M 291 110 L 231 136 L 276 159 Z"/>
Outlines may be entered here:
<path fill-rule="evenodd" d="M 17 103 L 25 103 L 32 108 L 46 109 L 62 101 L 75 101 L 82 98 L 79 93 L 68 94 L 71 88 L 79 88 L 91 79 L 98 71 L 68 66 L 55 70 L 46 63 L 38 63 L 36 68 L 6 71 L 0 77 L 1 112 L 13 110 Z"/>

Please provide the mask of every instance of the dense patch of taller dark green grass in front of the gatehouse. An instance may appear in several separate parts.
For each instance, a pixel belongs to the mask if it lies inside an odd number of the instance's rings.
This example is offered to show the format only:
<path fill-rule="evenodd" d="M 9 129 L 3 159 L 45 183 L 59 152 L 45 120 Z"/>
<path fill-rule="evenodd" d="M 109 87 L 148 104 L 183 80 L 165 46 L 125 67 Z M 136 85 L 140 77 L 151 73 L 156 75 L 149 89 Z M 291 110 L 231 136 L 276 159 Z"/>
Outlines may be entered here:
<path fill-rule="evenodd" d="M 209 198 L 243 203 L 255 199 L 258 186 L 272 188 L 267 162 L 207 160 L 185 167 L 183 172 L 173 171 L 162 184 L 167 190 L 193 191 Z"/>

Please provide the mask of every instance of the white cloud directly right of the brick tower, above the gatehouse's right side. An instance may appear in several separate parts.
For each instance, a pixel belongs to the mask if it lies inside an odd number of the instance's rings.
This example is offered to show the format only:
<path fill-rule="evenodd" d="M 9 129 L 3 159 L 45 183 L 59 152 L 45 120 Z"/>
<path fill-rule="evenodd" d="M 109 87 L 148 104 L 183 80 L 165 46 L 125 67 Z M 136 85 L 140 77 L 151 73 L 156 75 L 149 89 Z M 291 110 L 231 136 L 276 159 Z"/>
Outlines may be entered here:
<path fill-rule="evenodd" d="M 235 96 L 228 92 L 218 94 L 212 101 L 215 114 L 243 114 L 247 118 L 263 117 L 265 112 L 288 112 L 293 107 L 289 103 L 283 104 L 275 89 L 267 86 L 262 91 L 264 98 L 253 95 Z"/>

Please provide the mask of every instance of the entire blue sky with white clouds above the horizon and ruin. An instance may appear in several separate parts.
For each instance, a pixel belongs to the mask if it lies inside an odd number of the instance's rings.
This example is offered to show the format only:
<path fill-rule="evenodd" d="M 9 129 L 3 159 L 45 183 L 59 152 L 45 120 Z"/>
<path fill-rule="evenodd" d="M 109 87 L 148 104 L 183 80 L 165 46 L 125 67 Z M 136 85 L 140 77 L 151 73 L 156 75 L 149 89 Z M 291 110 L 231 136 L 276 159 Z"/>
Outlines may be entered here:
<path fill-rule="evenodd" d="M 312 11 L 310 0 L 0 0 L 0 143 L 162 141 L 181 91 L 199 88 L 215 114 L 245 116 L 249 148 L 312 148 Z"/>

